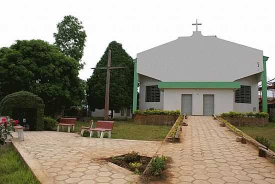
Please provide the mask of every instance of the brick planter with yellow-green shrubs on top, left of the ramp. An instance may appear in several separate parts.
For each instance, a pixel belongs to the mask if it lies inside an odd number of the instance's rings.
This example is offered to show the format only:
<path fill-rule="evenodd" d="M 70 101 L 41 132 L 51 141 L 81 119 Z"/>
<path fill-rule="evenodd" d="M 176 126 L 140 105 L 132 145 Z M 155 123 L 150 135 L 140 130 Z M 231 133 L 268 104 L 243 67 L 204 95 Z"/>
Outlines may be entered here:
<path fill-rule="evenodd" d="M 173 124 L 179 114 L 179 110 L 136 110 L 133 120 L 138 124 Z"/>

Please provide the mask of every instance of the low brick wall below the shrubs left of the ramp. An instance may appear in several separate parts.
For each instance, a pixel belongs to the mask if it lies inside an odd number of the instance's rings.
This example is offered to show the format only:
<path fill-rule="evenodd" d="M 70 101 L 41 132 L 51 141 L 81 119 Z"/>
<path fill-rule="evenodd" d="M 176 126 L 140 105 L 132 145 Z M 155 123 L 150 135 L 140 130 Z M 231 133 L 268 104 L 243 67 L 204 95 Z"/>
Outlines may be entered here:
<path fill-rule="evenodd" d="M 138 124 L 173 124 L 177 119 L 177 115 L 144 115 L 133 114 L 134 122 Z"/>

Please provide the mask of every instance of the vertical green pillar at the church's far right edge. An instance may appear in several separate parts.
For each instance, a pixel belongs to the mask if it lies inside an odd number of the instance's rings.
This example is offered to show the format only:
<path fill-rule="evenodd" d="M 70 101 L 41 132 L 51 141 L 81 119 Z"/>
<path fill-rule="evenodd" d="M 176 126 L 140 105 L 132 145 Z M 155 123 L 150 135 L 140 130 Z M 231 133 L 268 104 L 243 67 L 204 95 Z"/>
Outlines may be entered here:
<path fill-rule="evenodd" d="M 262 111 L 267 112 L 267 84 L 266 84 L 266 61 L 269 57 L 262 56 L 263 71 L 261 72 L 261 95 Z"/>

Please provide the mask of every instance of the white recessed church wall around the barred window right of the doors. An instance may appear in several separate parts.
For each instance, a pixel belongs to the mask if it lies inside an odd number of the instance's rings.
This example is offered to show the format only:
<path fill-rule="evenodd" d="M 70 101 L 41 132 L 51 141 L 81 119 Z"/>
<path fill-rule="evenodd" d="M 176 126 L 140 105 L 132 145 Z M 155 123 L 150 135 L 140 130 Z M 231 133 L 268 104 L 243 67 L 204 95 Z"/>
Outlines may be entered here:
<path fill-rule="evenodd" d="M 251 112 L 253 107 L 256 108 L 258 112 L 258 80 L 260 79 L 260 73 L 240 78 L 236 80 L 240 82 L 240 85 L 250 85 L 251 86 L 251 103 L 235 103 L 234 102 L 234 111 L 236 112 Z"/>

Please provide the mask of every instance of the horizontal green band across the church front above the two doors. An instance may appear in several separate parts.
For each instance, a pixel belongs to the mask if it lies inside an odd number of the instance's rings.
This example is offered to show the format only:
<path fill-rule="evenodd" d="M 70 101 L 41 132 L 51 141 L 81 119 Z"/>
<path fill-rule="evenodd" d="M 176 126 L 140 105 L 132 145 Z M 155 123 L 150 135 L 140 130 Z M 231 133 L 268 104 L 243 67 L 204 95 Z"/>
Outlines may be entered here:
<path fill-rule="evenodd" d="M 239 82 L 158 82 L 158 88 L 240 88 Z"/>

